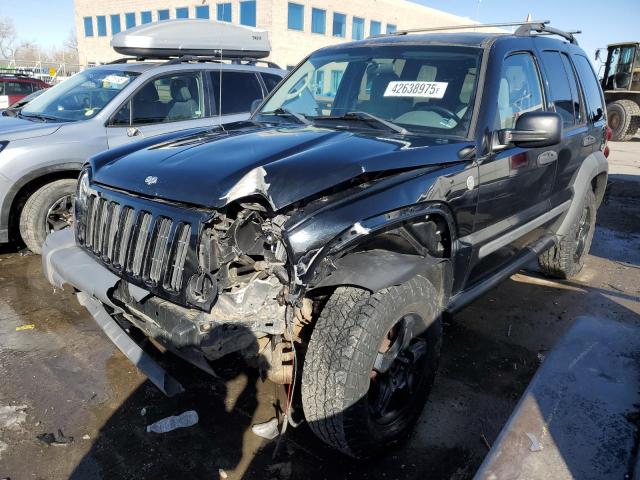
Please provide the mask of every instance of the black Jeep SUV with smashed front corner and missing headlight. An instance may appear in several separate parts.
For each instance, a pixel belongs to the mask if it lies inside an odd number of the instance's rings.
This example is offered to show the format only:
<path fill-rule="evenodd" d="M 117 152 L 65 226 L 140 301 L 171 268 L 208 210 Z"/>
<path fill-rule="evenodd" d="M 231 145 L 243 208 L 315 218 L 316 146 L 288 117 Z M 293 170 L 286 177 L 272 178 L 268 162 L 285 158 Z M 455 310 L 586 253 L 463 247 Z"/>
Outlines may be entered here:
<path fill-rule="evenodd" d="M 545 24 L 331 46 L 250 121 L 93 157 L 44 271 L 166 393 L 129 334 L 205 370 L 245 356 L 370 456 L 416 423 L 444 312 L 536 258 L 580 272 L 608 134 L 585 53 Z"/>

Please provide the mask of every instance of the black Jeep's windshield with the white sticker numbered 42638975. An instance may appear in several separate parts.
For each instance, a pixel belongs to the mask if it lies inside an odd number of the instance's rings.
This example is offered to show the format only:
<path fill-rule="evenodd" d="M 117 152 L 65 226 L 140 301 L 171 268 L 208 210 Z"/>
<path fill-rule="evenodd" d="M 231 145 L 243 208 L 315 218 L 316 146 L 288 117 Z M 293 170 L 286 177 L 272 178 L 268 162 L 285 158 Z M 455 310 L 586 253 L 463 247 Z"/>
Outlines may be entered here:
<path fill-rule="evenodd" d="M 313 122 L 357 118 L 363 123 L 373 115 L 412 133 L 464 137 L 480 59 L 480 49 L 454 46 L 319 52 L 280 85 L 260 115 L 296 113 Z"/>

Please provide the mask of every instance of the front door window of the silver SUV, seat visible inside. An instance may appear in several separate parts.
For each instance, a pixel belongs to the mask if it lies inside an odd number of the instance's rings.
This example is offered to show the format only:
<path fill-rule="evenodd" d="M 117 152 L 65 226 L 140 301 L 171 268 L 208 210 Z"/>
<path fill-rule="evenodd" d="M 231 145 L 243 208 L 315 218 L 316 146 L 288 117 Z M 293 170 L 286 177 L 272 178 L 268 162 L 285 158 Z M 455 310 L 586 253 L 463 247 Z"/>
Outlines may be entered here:
<path fill-rule="evenodd" d="M 187 72 L 149 81 L 122 106 L 112 124 L 148 125 L 203 117 L 202 75 Z"/>

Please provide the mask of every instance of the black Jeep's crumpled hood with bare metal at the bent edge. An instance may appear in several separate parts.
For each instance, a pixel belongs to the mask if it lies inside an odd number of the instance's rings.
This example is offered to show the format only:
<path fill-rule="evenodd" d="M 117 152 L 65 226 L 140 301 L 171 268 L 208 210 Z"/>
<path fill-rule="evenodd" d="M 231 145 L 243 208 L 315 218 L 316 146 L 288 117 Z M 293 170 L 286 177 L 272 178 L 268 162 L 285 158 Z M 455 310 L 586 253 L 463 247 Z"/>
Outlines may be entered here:
<path fill-rule="evenodd" d="M 116 158 L 100 155 L 91 160 L 92 180 L 211 208 L 257 194 L 278 210 L 363 173 L 458 162 L 467 145 L 378 131 L 241 124 Z"/>

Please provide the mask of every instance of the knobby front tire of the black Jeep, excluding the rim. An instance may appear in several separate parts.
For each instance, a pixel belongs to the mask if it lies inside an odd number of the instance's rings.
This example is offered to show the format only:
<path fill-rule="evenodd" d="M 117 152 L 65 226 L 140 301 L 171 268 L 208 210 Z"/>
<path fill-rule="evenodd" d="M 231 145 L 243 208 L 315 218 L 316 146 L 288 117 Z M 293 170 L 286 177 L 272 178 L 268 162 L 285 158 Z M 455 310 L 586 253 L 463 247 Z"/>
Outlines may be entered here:
<path fill-rule="evenodd" d="M 302 372 L 302 405 L 311 430 L 330 446 L 355 458 L 375 454 L 406 436 L 423 410 L 433 384 L 442 338 L 439 299 L 417 276 L 375 294 L 339 287 L 323 308 L 311 335 Z M 424 381 L 413 392 L 407 415 L 382 428 L 369 412 L 370 375 L 381 341 L 404 312 L 419 314 L 427 353 Z"/>

